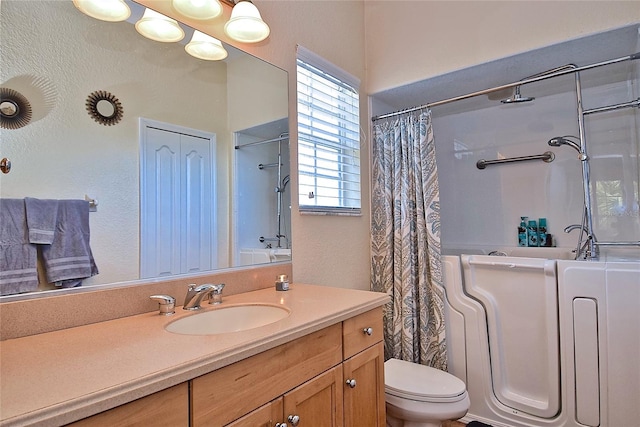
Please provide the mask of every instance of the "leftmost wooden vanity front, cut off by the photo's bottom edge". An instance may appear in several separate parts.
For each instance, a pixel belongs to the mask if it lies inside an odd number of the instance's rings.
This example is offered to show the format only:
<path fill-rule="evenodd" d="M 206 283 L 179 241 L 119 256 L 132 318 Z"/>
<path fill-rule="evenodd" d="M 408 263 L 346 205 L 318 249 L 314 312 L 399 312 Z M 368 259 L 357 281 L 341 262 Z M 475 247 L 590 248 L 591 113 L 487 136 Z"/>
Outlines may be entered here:
<path fill-rule="evenodd" d="M 187 383 L 159 391 L 73 424 L 72 427 L 178 427 L 189 425 Z"/>

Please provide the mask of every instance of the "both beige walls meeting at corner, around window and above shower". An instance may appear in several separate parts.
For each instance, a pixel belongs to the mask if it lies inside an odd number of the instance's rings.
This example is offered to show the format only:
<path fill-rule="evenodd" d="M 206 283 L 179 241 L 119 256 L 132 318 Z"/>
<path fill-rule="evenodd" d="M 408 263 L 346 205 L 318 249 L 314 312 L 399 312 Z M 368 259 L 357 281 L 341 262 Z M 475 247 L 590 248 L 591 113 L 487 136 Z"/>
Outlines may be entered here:
<path fill-rule="evenodd" d="M 292 215 L 294 280 L 360 289 L 369 288 L 370 277 L 366 95 L 640 20 L 638 1 L 254 3 L 271 35 L 257 46 L 240 47 L 289 72 L 292 141 L 296 140 L 296 44 L 363 82 L 363 216 L 301 216 L 295 195 Z M 292 143 L 292 177 L 296 155 Z M 297 179 L 292 184 L 297 188 Z"/>

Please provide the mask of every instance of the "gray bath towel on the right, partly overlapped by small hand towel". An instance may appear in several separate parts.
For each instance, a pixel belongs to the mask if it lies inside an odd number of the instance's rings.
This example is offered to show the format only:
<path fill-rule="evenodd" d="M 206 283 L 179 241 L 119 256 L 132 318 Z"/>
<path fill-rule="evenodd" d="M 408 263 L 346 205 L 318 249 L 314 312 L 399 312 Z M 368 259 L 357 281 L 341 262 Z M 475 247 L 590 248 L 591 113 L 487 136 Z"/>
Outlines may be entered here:
<path fill-rule="evenodd" d="M 53 242 L 42 246 L 42 260 L 49 283 L 72 288 L 80 286 L 83 279 L 98 274 L 89 237 L 89 202 L 59 200 Z"/>

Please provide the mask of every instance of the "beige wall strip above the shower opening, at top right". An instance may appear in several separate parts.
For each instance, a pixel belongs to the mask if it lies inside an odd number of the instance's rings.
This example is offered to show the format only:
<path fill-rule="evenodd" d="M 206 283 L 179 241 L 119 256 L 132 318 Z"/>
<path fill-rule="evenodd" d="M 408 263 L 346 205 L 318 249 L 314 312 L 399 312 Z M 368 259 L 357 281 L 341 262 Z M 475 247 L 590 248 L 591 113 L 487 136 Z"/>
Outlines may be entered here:
<path fill-rule="evenodd" d="M 365 0 L 367 90 L 373 94 L 638 21 L 638 0 Z"/>

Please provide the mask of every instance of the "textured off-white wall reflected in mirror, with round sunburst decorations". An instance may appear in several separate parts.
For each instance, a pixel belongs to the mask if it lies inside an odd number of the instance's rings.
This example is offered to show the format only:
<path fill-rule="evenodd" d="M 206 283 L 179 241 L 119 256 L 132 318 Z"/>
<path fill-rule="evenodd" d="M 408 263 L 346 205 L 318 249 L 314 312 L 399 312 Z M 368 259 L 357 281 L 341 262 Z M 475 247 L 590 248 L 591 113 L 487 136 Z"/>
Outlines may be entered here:
<path fill-rule="evenodd" d="M 181 44 L 145 39 L 128 22 L 84 16 L 71 1 L 3 1 L 2 36 L 2 84 L 32 102 L 34 118 L 24 128 L 2 130 L 0 154 L 12 160 L 13 169 L 0 176 L 0 195 L 78 199 L 87 194 L 99 201 L 90 224 L 100 274 L 84 284 L 138 278 L 139 117 L 216 133 L 218 263 L 226 265 L 232 152 L 228 128 L 286 116 L 286 94 L 274 95 L 277 86 L 286 87 L 284 73 L 255 58 L 250 58 L 253 63 L 234 58 L 232 64 L 242 62 L 237 65 L 242 73 L 233 70 L 236 65 L 193 59 Z M 97 55 L 88 57 L 89 51 Z M 257 76 L 265 70 L 269 84 L 261 91 Z M 228 73 L 233 73 L 230 88 Z M 44 85 L 55 94 L 49 104 L 33 89 L 34 80 L 35 86 Z M 250 91 L 236 90 L 247 82 L 254 84 Z M 120 123 L 107 127 L 87 115 L 85 100 L 95 90 L 109 91 L 122 102 Z M 264 114 L 250 117 L 251 111 L 231 123 L 229 105 L 239 116 L 238 111 L 246 113 L 246 103 L 255 110 L 262 107 Z"/>

